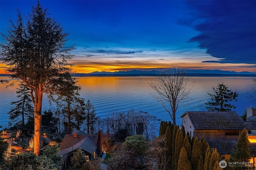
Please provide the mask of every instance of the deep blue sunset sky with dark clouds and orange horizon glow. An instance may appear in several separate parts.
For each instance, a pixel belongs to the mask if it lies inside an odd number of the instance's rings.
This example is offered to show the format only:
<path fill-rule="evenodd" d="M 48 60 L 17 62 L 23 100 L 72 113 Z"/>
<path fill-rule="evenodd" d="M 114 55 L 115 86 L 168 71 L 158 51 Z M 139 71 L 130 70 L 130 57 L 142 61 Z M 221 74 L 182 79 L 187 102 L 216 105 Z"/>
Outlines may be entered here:
<path fill-rule="evenodd" d="M 78 73 L 189 69 L 256 72 L 255 0 L 41 0 L 69 32 Z M 36 0 L 1 0 L 0 32 Z M 2 40 L 0 40 L 2 42 Z M 0 66 L 3 66 L 0 63 Z M 3 70 L 0 70 L 3 73 Z"/>

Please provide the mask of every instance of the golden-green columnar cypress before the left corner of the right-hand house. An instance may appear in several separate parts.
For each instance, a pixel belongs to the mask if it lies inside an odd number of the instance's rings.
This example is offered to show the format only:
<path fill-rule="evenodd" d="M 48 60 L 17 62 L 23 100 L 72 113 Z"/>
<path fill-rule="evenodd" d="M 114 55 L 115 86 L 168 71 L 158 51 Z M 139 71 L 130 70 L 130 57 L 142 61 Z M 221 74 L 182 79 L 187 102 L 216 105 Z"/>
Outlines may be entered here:
<path fill-rule="evenodd" d="M 191 165 L 193 170 L 197 170 L 200 156 L 202 156 L 202 144 L 201 144 L 201 141 L 198 142 L 198 139 L 196 137 L 194 140 L 192 155 L 191 155 Z"/>

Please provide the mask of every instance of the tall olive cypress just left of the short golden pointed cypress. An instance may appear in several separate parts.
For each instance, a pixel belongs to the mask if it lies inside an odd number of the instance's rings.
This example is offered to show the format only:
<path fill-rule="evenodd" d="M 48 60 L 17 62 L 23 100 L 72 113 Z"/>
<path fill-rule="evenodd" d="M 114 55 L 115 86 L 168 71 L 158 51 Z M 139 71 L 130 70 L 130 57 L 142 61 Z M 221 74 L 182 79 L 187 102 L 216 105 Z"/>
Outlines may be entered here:
<path fill-rule="evenodd" d="M 174 169 L 178 169 L 178 161 L 180 156 L 180 150 L 183 146 L 183 135 L 180 130 L 177 131 L 175 138 L 175 154 L 174 154 Z"/>

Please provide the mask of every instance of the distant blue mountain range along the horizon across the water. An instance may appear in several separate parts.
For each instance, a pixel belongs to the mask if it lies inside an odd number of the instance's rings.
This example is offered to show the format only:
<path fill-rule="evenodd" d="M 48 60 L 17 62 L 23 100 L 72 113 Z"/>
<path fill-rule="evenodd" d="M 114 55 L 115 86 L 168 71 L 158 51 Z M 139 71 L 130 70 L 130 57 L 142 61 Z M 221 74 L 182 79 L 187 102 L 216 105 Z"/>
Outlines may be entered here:
<path fill-rule="evenodd" d="M 152 71 L 94 71 L 92 73 L 75 73 L 73 76 L 84 77 L 84 76 L 156 76 L 159 75 L 161 71 L 152 70 Z M 236 71 L 222 71 L 222 70 L 208 70 L 208 69 L 198 69 L 198 70 L 189 70 L 188 75 L 196 77 L 221 77 L 221 76 L 242 76 L 242 77 L 253 77 L 256 76 L 256 73 L 251 73 L 248 71 L 236 72 Z M 5 74 L 0 74 L 0 76 L 6 76 Z"/>

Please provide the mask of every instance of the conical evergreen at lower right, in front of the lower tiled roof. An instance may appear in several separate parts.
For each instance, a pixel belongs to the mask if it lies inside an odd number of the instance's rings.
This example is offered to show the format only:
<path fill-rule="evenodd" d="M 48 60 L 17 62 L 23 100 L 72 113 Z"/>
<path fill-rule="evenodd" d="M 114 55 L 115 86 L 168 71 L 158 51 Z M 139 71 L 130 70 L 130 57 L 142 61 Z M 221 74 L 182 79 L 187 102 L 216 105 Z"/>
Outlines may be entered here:
<path fill-rule="evenodd" d="M 242 130 L 236 144 L 236 152 L 230 156 L 232 162 L 249 162 L 250 156 L 250 145 L 248 141 L 248 134 L 246 128 Z M 241 167 L 239 167 L 241 168 Z M 238 169 L 239 169 L 238 168 Z M 245 167 L 242 167 L 245 168 Z"/>

